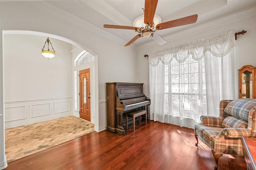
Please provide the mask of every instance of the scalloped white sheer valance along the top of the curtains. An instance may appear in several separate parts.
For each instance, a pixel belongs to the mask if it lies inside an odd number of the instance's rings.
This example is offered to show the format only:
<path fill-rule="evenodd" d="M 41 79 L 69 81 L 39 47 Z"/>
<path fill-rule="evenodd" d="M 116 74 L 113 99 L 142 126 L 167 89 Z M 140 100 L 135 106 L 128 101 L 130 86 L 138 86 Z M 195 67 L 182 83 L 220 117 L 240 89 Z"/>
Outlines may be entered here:
<path fill-rule="evenodd" d="M 183 63 L 192 55 L 194 60 L 200 60 L 204 57 L 206 51 L 210 51 L 215 57 L 224 57 L 235 44 L 235 32 L 203 38 L 197 41 L 186 43 L 184 45 L 162 49 L 148 53 L 148 62 L 152 67 L 156 67 L 161 61 L 168 65 L 175 58 L 179 63 Z"/>

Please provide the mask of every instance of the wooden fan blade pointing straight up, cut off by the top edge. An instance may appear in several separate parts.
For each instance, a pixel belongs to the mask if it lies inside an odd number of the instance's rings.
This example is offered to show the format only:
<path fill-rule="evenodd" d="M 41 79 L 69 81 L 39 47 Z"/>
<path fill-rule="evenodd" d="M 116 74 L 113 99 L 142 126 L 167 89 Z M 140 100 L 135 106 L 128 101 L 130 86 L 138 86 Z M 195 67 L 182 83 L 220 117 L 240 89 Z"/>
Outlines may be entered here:
<path fill-rule="evenodd" d="M 158 0 L 145 0 L 144 23 L 153 24 Z"/>

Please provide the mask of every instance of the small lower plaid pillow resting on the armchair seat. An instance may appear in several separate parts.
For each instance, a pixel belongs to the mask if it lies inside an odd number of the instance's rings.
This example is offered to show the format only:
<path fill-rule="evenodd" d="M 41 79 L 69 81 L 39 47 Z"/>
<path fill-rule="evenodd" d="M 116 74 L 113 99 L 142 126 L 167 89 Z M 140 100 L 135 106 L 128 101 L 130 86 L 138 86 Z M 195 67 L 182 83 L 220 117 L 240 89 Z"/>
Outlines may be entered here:
<path fill-rule="evenodd" d="M 223 128 L 247 128 L 248 121 L 245 121 L 244 119 L 240 119 L 238 117 L 228 116 L 223 120 L 221 127 L 223 127 Z"/>

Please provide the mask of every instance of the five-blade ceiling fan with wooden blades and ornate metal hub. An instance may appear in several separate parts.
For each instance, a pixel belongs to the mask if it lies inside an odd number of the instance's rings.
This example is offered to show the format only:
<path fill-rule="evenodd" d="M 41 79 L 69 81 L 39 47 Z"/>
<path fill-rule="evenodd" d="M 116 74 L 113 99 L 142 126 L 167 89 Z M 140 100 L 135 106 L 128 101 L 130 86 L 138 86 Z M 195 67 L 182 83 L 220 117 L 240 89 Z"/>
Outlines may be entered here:
<path fill-rule="evenodd" d="M 160 24 L 154 25 L 154 16 L 156 12 L 158 0 L 145 0 L 145 8 L 144 8 L 144 23 L 146 24 L 145 27 L 131 27 L 131 26 L 116 26 L 116 25 L 104 25 L 104 28 L 115 28 L 115 29 L 126 29 L 126 30 L 135 30 L 139 34 L 136 35 L 130 42 L 126 43 L 124 46 L 128 46 L 134 41 L 136 41 L 140 37 L 152 37 L 158 44 L 162 45 L 166 43 L 166 41 L 156 34 L 157 30 L 164 30 L 166 28 L 173 28 L 177 26 L 183 26 L 187 24 L 193 24 L 197 20 L 197 14 L 192 16 L 187 16 L 184 18 L 180 18 L 177 20 L 172 20 L 168 22 L 163 22 Z"/>

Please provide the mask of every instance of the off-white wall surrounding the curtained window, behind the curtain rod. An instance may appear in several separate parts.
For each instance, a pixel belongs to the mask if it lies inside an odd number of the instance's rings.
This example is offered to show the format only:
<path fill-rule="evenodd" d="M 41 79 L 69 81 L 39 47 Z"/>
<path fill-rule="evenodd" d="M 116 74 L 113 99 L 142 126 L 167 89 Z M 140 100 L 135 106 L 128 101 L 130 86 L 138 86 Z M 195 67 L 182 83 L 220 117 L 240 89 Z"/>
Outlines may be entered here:
<path fill-rule="evenodd" d="M 254 12 L 253 12 L 254 11 Z M 242 17 L 239 17 L 242 16 Z M 198 33 L 191 34 L 190 36 L 183 36 L 182 33 L 177 33 L 180 36 L 174 35 L 173 41 L 168 42 L 164 45 L 154 45 L 148 48 L 144 48 L 138 51 L 138 65 L 143 65 L 143 67 L 138 67 L 138 79 L 145 83 L 144 93 L 149 97 L 149 63 L 148 57 L 145 59 L 143 57 L 145 54 L 153 51 L 158 51 L 160 49 L 174 47 L 182 45 L 185 43 L 192 42 L 194 40 L 199 40 L 201 38 L 216 36 L 224 34 L 230 31 L 240 32 L 246 30 L 247 33 L 244 35 L 238 35 L 236 40 L 236 47 L 234 47 L 234 72 L 235 72 L 235 82 L 236 82 L 236 98 L 238 98 L 238 69 L 243 65 L 253 65 L 256 66 L 256 13 L 255 9 L 248 12 L 243 12 L 242 14 L 237 14 L 234 16 L 230 22 L 219 23 L 219 25 L 209 25 L 209 28 L 202 28 L 204 30 L 198 30 Z M 237 18 L 237 19 L 236 19 Z M 171 28 L 170 28 L 171 29 Z M 161 30 L 160 30 L 161 31 Z M 183 33 L 186 35 L 186 32 Z"/>

